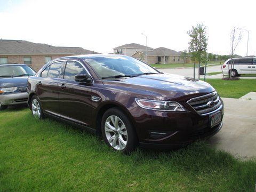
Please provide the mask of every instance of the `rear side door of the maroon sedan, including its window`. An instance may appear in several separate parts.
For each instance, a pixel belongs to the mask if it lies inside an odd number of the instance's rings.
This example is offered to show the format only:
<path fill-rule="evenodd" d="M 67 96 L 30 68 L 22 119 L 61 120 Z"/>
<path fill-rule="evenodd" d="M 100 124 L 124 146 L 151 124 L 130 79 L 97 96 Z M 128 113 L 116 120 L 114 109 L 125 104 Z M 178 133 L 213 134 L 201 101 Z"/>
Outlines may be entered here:
<path fill-rule="evenodd" d="M 44 111 L 58 112 L 58 97 L 60 87 L 58 81 L 65 61 L 57 61 L 45 68 L 36 84 L 36 92 L 41 100 Z"/>

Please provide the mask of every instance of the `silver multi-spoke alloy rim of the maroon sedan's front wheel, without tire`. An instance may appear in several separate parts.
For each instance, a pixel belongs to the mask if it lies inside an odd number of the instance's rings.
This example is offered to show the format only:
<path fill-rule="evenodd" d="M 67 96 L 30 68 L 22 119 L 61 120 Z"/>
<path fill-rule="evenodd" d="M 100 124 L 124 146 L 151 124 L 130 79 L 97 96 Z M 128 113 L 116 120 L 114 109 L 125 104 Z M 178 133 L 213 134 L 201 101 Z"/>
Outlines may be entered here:
<path fill-rule="evenodd" d="M 115 116 L 109 116 L 105 121 L 106 138 L 114 149 L 123 150 L 128 141 L 127 130 L 123 121 Z"/>

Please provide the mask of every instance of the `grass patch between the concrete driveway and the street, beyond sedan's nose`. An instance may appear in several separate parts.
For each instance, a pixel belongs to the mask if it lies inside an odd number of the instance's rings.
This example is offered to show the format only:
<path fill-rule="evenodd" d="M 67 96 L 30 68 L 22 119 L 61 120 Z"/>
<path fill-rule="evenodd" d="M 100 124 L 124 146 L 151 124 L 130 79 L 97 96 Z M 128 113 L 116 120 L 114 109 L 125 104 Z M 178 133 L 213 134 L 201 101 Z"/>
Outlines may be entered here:
<path fill-rule="evenodd" d="M 239 79 L 238 81 L 206 79 L 206 82 L 210 83 L 221 97 L 241 98 L 251 91 L 256 92 L 256 79 Z"/>

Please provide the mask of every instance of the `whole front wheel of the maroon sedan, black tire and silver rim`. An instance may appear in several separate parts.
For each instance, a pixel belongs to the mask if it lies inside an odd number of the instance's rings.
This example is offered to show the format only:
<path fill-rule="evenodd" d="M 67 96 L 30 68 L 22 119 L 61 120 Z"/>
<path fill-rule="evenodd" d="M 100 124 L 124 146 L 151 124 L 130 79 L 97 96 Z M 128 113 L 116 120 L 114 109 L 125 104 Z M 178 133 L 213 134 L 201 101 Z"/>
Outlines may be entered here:
<path fill-rule="evenodd" d="M 118 108 L 108 109 L 102 117 L 101 133 L 107 145 L 127 154 L 138 146 L 137 134 L 129 118 Z"/>

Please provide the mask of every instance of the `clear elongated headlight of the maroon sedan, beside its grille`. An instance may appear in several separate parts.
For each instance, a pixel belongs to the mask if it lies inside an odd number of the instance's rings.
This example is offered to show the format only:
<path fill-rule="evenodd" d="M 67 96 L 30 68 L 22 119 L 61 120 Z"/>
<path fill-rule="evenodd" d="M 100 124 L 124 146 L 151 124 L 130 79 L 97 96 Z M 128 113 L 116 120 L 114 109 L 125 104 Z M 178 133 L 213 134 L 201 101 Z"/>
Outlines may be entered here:
<path fill-rule="evenodd" d="M 186 111 L 186 109 L 175 101 L 159 101 L 135 98 L 138 106 L 144 109 L 159 110 L 159 111 Z"/>

